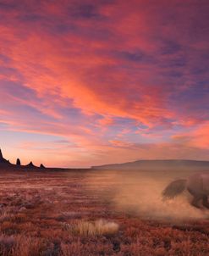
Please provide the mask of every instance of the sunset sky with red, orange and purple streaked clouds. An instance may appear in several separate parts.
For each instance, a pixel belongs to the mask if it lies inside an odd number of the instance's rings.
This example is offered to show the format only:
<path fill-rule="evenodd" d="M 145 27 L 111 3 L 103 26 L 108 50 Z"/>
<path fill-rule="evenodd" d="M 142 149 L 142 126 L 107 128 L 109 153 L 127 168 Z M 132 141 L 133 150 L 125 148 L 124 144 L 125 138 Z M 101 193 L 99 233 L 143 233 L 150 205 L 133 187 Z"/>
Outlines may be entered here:
<path fill-rule="evenodd" d="M 4 157 L 209 160 L 208 13 L 208 0 L 0 0 Z"/>

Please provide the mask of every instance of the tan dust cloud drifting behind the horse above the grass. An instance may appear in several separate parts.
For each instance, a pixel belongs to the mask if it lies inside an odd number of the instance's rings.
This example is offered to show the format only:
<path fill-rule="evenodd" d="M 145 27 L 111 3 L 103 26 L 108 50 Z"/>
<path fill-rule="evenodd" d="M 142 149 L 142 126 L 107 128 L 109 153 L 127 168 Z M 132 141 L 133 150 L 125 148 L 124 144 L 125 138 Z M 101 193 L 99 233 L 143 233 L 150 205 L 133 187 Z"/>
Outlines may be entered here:
<path fill-rule="evenodd" d="M 177 178 L 186 178 L 187 173 L 94 171 L 88 175 L 91 192 L 110 203 L 113 210 L 134 214 L 149 220 L 194 220 L 208 219 L 209 210 L 195 209 L 190 205 L 189 192 L 183 192 L 172 200 L 162 200 L 162 190 Z"/>

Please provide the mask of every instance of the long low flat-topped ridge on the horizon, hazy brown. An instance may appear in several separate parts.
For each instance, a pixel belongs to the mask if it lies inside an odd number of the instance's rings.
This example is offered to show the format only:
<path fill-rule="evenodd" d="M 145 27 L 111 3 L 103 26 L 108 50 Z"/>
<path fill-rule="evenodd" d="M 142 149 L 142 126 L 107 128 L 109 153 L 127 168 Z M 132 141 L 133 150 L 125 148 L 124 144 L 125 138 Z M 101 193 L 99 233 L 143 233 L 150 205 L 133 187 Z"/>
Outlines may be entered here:
<path fill-rule="evenodd" d="M 92 166 L 94 170 L 208 170 L 209 161 L 184 159 L 137 160 L 123 164 Z"/>

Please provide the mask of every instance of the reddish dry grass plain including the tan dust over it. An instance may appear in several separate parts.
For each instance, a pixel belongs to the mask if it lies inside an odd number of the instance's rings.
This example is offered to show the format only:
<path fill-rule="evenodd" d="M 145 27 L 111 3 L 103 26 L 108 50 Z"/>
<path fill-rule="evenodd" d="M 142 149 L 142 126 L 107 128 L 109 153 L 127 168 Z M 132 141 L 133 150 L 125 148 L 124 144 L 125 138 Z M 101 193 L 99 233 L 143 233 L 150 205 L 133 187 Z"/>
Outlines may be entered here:
<path fill-rule="evenodd" d="M 161 200 L 175 176 L 1 170 L 0 255 L 209 255 L 206 210 Z"/>

